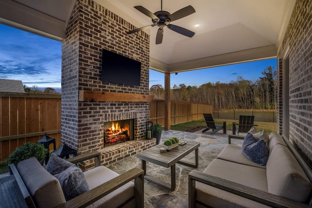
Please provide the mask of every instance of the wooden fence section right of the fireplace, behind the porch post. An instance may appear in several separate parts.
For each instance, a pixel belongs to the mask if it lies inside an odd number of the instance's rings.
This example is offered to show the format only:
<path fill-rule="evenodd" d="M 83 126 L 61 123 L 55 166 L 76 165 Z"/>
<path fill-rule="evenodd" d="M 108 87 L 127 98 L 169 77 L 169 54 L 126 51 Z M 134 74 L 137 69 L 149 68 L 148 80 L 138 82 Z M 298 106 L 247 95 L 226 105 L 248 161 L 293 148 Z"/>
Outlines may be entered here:
<path fill-rule="evenodd" d="M 203 113 L 213 113 L 213 105 L 189 101 L 171 101 L 170 124 L 184 123 L 204 119 Z M 150 102 L 150 121 L 165 125 L 165 102 L 154 100 Z"/>

